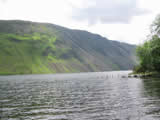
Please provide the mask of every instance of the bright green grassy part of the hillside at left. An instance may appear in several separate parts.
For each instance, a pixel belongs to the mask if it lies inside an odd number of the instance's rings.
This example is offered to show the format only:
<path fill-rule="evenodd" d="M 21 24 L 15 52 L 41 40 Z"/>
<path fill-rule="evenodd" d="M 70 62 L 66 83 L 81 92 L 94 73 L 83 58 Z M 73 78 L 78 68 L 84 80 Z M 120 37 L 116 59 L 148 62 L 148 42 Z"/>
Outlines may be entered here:
<path fill-rule="evenodd" d="M 74 72 L 74 69 L 68 69 L 65 65 L 68 61 L 77 63 L 78 61 L 74 58 L 66 61 L 61 59 L 61 55 L 67 53 L 68 49 L 57 49 L 55 41 L 55 36 L 38 33 L 26 35 L 1 33 L 0 74 Z M 55 63 L 55 67 L 51 67 L 52 63 Z M 56 64 L 59 64 L 57 68 Z"/>

